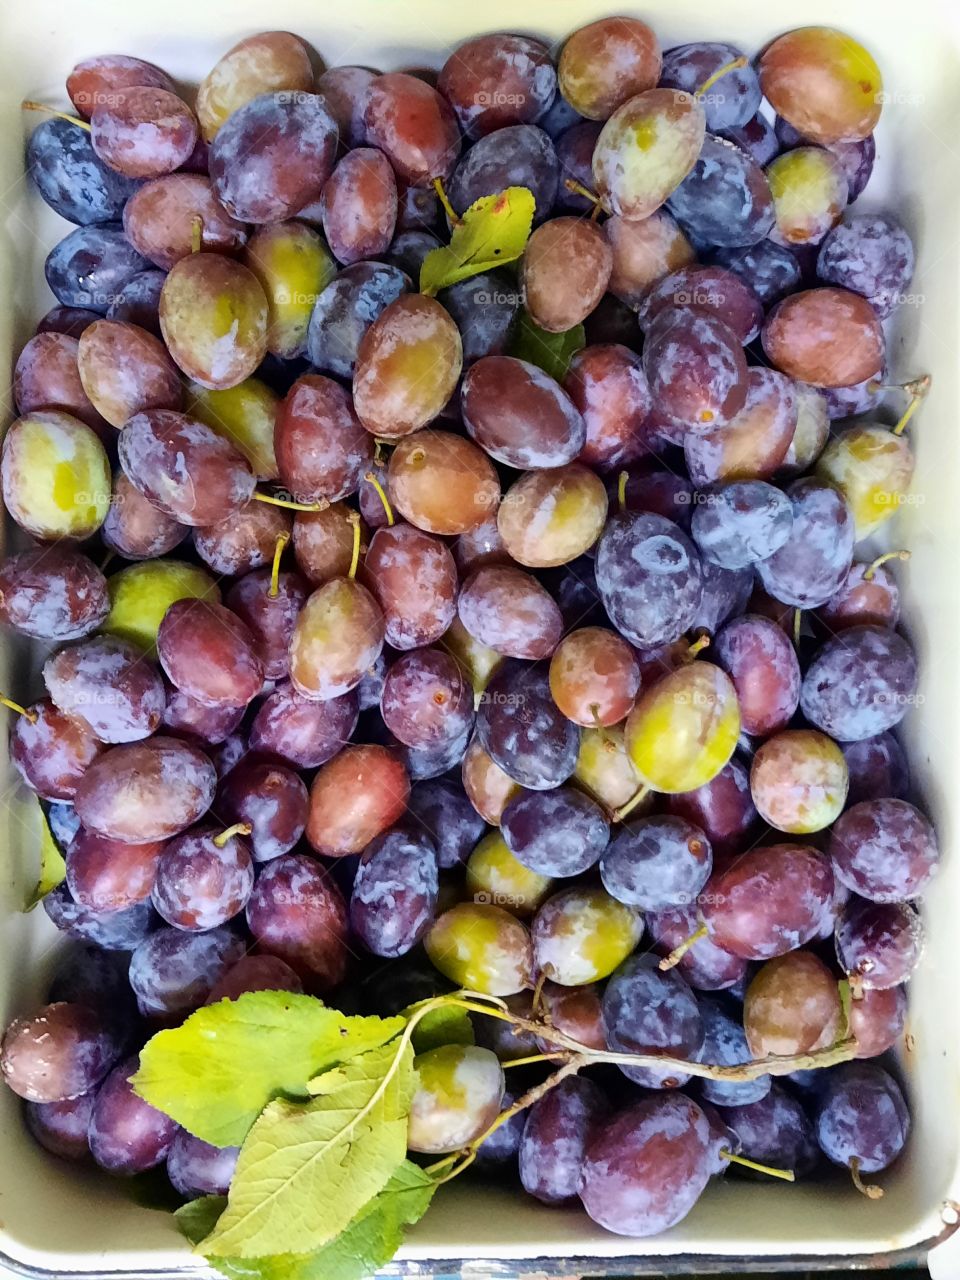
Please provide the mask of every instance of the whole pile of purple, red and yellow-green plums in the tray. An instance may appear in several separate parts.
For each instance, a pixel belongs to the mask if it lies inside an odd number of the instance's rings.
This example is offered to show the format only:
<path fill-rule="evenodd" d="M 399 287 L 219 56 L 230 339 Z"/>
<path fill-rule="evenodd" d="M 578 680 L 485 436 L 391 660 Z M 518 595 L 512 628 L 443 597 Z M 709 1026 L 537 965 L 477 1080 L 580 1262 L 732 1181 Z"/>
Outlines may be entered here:
<path fill-rule="evenodd" d="M 879 70 L 829 28 L 751 60 L 635 18 L 314 65 L 268 32 L 187 93 L 91 58 L 76 118 L 29 116 L 76 225 L 14 372 L 0 617 L 45 646 L 10 749 L 73 942 L 4 1078 L 55 1155 L 196 1196 L 236 1149 L 129 1078 L 248 991 L 466 987 L 681 1065 L 852 1036 L 776 1083 L 586 1069 L 477 1167 L 627 1235 L 739 1153 L 863 1187 L 909 1128 L 883 1055 L 940 856 L 896 576 L 858 548 L 925 389 L 887 369 L 910 237 L 854 207 Z M 517 187 L 522 256 L 419 292 Z M 415 1152 L 549 1071 L 504 1092 L 552 1046 L 475 1021 L 417 1060 Z"/>

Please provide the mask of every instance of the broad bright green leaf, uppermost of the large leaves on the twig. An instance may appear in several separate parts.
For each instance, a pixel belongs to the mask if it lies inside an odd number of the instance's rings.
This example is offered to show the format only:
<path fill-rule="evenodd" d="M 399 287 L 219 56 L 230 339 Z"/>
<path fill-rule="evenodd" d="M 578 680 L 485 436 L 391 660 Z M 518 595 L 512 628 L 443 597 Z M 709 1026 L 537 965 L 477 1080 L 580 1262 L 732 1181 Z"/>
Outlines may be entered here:
<path fill-rule="evenodd" d="M 133 1088 L 215 1147 L 238 1147 L 279 1094 L 398 1036 L 403 1018 L 347 1018 L 312 996 L 253 991 L 198 1009 L 141 1050 Z"/>

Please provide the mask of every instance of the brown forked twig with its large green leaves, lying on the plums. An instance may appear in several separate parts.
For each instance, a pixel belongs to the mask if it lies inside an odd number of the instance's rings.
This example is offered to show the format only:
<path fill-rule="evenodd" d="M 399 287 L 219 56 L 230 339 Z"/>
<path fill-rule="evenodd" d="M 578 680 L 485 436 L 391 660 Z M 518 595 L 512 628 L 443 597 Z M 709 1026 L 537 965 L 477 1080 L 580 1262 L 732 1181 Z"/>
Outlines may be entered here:
<path fill-rule="evenodd" d="M 472 1041 L 470 1016 L 494 1018 L 554 1046 L 538 1055 L 552 1074 L 500 1112 L 462 1151 L 421 1167 L 407 1156 L 417 1088 L 415 1053 Z M 814 1053 L 739 1066 L 591 1050 L 547 1016 L 460 991 L 393 1018 L 349 1016 L 312 996 L 250 992 L 197 1010 L 143 1047 L 136 1092 L 195 1137 L 241 1146 L 228 1197 L 177 1211 L 187 1239 L 230 1277 L 362 1280 L 394 1256 L 436 1189 L 480 1144 L 561 1080 L 598 1062 L 716 1080 L 750 1080 L 851 1059 L 846 1033 Z"/>

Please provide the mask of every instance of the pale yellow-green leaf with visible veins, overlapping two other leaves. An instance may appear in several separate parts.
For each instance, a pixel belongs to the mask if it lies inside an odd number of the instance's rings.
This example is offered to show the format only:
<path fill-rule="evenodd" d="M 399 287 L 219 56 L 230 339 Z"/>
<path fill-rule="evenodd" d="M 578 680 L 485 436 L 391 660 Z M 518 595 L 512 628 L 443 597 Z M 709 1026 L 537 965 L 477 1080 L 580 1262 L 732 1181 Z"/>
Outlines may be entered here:
<path fill-rule="evenodd" d="M 403 1038 L 343 1064 L 310 1102 L 271 1102 L 237 1161 L 227 1210 L 200 1252 L 256 1258 L 311 1253 L 387 1185 L 407 1153 L 416 1088 Z"/>

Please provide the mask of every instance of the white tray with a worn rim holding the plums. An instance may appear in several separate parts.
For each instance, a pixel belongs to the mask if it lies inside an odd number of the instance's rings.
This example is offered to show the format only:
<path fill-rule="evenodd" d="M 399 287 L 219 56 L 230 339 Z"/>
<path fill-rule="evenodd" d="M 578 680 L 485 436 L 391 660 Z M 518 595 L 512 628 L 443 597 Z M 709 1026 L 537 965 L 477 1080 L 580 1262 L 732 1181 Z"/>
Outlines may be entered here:
<path fill-rule="evenodd" d="M 781 31 L 819 22 L 840 24 L 863 40 L 884 74 L 888 101 L 878 131 L 878 172 L 858 209 L 891 209 L 916 239 L 916 301 L 899 312 L 890 362 L 897 376 L 933 374 L 933 390 L 911 433 L 915 499 L 901 509 L 892 534 L 913 552 L 899 576 L 905 582 L 905 626 L 922 664 L 922 698 L 905 721 L 904 739 L 945 851 L 942 876 L 925 905 L 927 954 L 910 986 L 911 1047 L 902 1069 L 914 1132 L 896 1169 L 882 1176 L 881 1202 L 864 1199 L 842 1178 L 796 1187 L 726 1179 L 709 1188 L 680 1226 L 643 1242 L 607 1234 L 584 1213 L 538 1207 L 521 1194 L 449 1188 L 411 1233 L 401 1258 L 412 1268 L 425 1260 L 475 1260 L 475 1274 L 490 1275 L 500 1272 L 498 1263 L 543 1258 L 545 1271 L 570 1275 L 584 1270 L 573 1261 L 582 1257 L 595 1260 L 591 1274 L 636 1274 L 705 1270 L 724 1257 L 737 1260 L 735 1270 L 790 1258 L 863 1258 L 923 1251 L 943 1233 L 947 1202 L 960 1202 L 960 10 L 955 0 L 671 0 L 662 8 L 639 15 L 655 27 L 664 47 L 714 38 L 754 52 Z M 522 6 L 515 0 L 477 6 L 456 0 L 5 0 L 0 367 L 13 367 L 37 317 L 54 305 L 42 262 L 69 230 L 23 179 L 24 123 L 35 122 L 22 119 L 19 102 L 32 97 L 65 104 L 64 78 L 79 58 L 138 54 L 196 82 L 241 37 L 285 27 L 311 41 L 328 65 L 439 67 L 452 47 L 481 31 L 522 29 L 559 40 L 611 12 L 617 12 L 616 0 L 527 0 Z M 9 379 L 3 385 L 9 421 Z M 28 659 L 8 646 L 3 666 L 0 689 L 22 695 Z M 23 800 L 5 762 L 5 735 L 0 739 L 5 1023 L 36 1002 L 56 940 L 42 911 L 18 914 L 36 879 L 36 836 L 24 824 Z M 0 1089 L 0 1266 L 4 1261 L 14 1270 L 54 1275 L 202 1271 L 169 1216 L 137 1208 L 115 1183 L 77 1172 L 37 1148 L 23 1128 L 18 1100 Z M 520 1270 L 538 1266 L 529 1262 Z"/>

